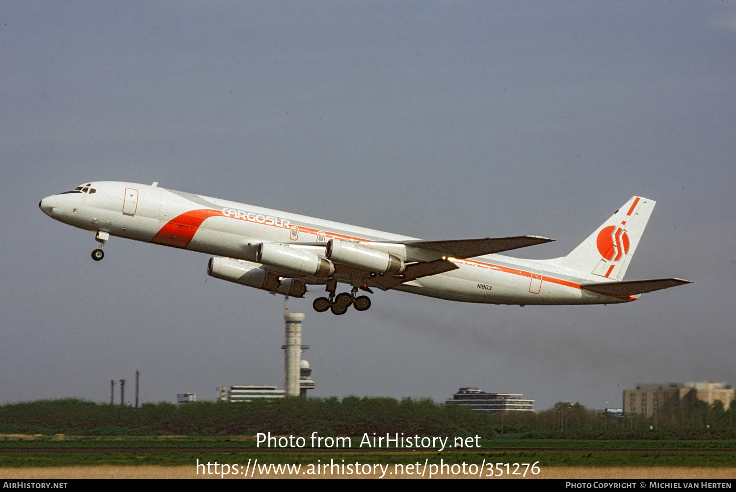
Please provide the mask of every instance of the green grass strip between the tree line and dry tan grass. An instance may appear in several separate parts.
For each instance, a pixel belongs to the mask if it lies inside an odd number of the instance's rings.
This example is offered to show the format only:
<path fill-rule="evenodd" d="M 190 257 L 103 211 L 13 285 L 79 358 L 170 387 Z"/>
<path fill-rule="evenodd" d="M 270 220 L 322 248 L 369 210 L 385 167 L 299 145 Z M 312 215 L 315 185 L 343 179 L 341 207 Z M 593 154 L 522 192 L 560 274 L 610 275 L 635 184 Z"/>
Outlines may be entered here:
<path fill-rule="evenodd" d="M 358 446 L 358 442 L 354 446 Z M 25 436 L 0 438 L 0 468 L 190 466 L 194 463 L 535 463 L 542 468 L 736 469 L 736 441 L 601 441 L 500 436 L 482 449 L 256 449 L 252 437 Z M 344 460 L 344 461 L 343 461 Z"/>

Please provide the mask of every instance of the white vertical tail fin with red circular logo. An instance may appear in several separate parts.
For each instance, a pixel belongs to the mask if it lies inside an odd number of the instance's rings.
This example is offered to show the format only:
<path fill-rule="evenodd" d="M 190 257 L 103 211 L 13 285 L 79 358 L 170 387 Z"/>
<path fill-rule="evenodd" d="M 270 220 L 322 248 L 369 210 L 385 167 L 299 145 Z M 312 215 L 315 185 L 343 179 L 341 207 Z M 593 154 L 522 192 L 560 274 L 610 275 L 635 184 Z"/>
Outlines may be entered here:
<path fill-rule="evenodd" d="M 632 196 L 576 249 L 554 263 L 586 275 L 623 280 L 656 203 Z"/>

